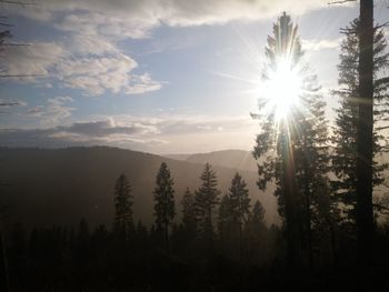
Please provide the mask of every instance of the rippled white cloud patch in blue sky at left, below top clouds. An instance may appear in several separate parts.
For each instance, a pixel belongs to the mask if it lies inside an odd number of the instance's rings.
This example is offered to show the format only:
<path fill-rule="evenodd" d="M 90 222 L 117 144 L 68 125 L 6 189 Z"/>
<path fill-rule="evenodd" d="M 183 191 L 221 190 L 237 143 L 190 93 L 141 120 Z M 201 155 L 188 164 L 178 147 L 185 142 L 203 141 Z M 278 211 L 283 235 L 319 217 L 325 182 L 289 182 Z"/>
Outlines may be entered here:
<path fill-rule="evenodd" d="M 107 91 L 141 94 L 161 88 L 149 73 L 134 73 L 138 63 L 100 37 L 89 36 L 74 43 L 32 42 L 28 49 L 12 47 L 2 54 L 2 69 L 8 74 L 28 75 L 16 78 L 22 82 L 58 81 L 86 95 Z"/>

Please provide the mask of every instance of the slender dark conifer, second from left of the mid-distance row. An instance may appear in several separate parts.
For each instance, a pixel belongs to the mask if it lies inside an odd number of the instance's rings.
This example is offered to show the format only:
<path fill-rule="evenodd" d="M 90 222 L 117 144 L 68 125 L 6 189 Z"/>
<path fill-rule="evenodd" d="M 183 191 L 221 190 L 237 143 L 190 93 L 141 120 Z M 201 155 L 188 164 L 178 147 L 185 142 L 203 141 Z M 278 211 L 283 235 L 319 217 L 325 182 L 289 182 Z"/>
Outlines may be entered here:
<path fill-rule="evenodd" d="M 158 232 L 163 232 L 166 249 L 169 251 L 169 225 L 176 215 L 174 182 L 166 162 L 161 163 L 154 188 L 154 217 Z"/>

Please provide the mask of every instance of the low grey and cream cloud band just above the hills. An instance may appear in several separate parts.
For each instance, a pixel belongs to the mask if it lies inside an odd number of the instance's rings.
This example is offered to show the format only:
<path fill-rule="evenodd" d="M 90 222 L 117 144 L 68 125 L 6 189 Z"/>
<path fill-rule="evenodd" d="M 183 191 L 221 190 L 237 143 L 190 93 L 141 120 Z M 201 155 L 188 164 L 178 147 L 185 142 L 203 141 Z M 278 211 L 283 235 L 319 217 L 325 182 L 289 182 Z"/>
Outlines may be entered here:
<path fill-rule="evenodd" d="M 257 130 L 250 117 L 120 115 L 41 129 L 1 129 L 0 145 L 100 144 L 157 153 L 198 152 L 218 148 L 248 149 Z"/>

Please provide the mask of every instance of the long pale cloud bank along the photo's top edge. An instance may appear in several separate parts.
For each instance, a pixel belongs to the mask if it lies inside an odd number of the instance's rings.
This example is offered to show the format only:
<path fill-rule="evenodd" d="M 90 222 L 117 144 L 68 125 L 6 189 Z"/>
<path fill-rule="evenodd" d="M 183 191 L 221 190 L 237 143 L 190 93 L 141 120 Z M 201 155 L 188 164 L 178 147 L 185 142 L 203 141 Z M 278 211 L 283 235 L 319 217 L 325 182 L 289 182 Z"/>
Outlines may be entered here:
<path fill-rule="evenodd" d="M 64 19 L 64 28 L 71 29 L 72 23 L 90 26 L 88 20 L 91 19 L 101 30 L 121 32 L 131 38 L 143 37 L 160 23 L 186 27 L 258 20 L 282 11 L 302 14 L 328 6 L 326 0 L 37 0 L 37 3 L 29 12 L 20 13 L 47 21 L 56 13 L 66 12 L 72 16 Z M 86 13 L 90 14 L 89 18 L 84 17 Z"/>

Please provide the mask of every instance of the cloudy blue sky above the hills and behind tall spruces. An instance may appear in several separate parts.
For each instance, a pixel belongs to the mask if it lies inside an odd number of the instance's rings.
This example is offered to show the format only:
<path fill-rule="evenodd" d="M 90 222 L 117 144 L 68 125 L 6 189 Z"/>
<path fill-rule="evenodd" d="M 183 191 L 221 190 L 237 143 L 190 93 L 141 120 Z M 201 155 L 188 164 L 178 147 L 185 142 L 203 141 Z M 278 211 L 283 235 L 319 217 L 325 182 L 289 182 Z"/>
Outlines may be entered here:
<path fill-rule="evenodd" d="M 333 119 L 337 63 L 358 2 L 34 0 L 2 3 L 0 147 L 111 145 L 158 154 L 251 150 L 267 36 L 286 11 Z M 375 1 L 389 21 L 388 1 Z M 7 29 L 7 28 L 1 28 Z M 389 33 L 387 33 L 389 36 Z M 27 75 L 27 77 L 26 77 Z"/>

